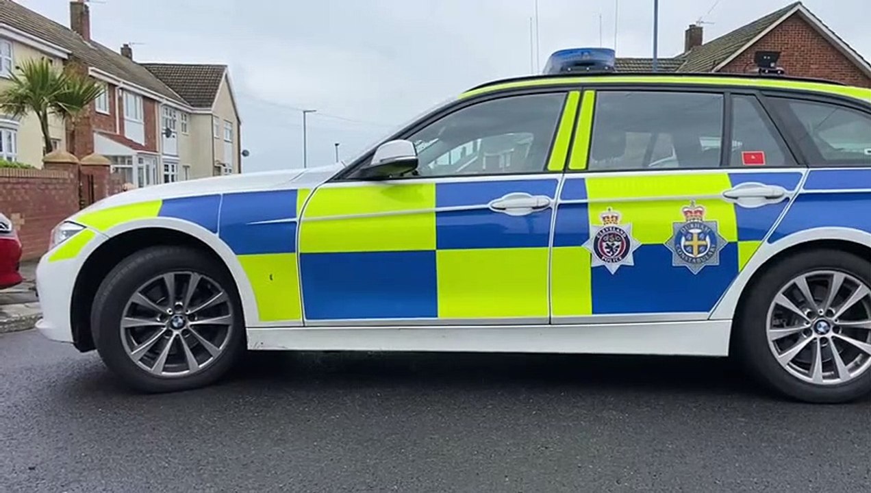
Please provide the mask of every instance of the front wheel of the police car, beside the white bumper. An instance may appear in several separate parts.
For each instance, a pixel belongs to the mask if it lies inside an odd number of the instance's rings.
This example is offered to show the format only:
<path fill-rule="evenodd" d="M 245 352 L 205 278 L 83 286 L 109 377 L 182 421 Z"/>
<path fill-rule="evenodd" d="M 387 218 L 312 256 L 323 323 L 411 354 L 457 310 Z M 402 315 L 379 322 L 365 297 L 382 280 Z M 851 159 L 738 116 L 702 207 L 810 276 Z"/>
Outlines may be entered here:
<path fill-rule="evenodd" d="M 91 331 L 105 365 L 146 393 L 211 384 L 245 351 L 233 277 L 191 247 L 149 247 L 122 260 L 98 288 Z"/>

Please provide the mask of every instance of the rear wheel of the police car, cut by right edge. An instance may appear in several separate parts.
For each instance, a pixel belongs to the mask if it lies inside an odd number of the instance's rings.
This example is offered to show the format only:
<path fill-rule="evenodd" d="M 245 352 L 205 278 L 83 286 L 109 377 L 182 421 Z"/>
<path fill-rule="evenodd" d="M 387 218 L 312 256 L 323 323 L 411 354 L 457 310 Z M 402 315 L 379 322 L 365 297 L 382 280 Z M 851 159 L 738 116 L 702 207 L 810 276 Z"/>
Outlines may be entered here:
<path fill-rule="evenodd" d="M 871 393 L 871 262 L 839 250 L 797 253 L 746 297 L 735 335 L 762 382 L 806 402 Z"/>

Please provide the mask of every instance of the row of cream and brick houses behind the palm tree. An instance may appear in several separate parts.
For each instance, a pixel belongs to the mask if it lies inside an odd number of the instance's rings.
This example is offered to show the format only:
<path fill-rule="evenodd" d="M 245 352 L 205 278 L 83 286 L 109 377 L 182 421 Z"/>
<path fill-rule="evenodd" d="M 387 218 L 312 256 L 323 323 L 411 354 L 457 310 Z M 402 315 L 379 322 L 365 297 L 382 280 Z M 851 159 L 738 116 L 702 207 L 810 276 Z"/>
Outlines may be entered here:
<path fill-rule="evenodd" d="M 129 45 L 112 51 L 92 39 L 91 13 L 84 0 L 71 1 L 70 27 L 12 0 L 0 0 L 0 69 L 3 53 L 8 54 L 10 70 L 25 57 L 47 56 L 104 84 L 103 94 L 76 125 L 64 132 L 55 122 L 52 138 L 57 132 L 57 147 L 79 158 L 91 152 L 106 156 L 122 181 L 149 186 L 240 172 L 240 118 L 225 65 L 172 64 L 186 75 L 208 76 L 204 84 L 180 87 L 159 70 L 160 64 L 134 61 Z M 16 135 L 17 155 L 22 158 L 17 160 L 38 167 L 41 133 L 38 127 L 24 125 L 27 118 L 22 118 Z M 3 119 L 0 115 L 0 134 Z"/>

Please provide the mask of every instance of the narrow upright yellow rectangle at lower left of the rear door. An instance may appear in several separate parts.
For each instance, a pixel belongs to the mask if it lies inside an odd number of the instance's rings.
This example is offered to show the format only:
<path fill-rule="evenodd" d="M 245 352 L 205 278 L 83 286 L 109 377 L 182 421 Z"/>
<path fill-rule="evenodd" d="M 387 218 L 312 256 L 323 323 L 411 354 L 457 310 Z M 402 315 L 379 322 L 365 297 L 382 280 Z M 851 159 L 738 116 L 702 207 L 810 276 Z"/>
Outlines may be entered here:
<path fill-rule="evenodd" d="M 592 314 L 590 251 L 584 247 L 554 247 L 550 261 L 553 315 Z"/>

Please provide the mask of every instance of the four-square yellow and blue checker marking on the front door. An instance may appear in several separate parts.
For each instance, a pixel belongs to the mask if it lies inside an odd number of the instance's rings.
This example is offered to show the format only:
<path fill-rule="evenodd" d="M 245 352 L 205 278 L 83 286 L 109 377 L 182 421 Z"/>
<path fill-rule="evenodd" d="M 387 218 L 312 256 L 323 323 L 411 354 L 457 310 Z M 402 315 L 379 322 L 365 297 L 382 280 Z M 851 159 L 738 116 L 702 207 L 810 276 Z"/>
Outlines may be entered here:
<path fill-rule="evenodd" d="M 306 318 L 547 317 L 550 209 L 513 217 L 488 204 L 552 198 L 557 180 L 318 189 L 300 230 Z"/>

